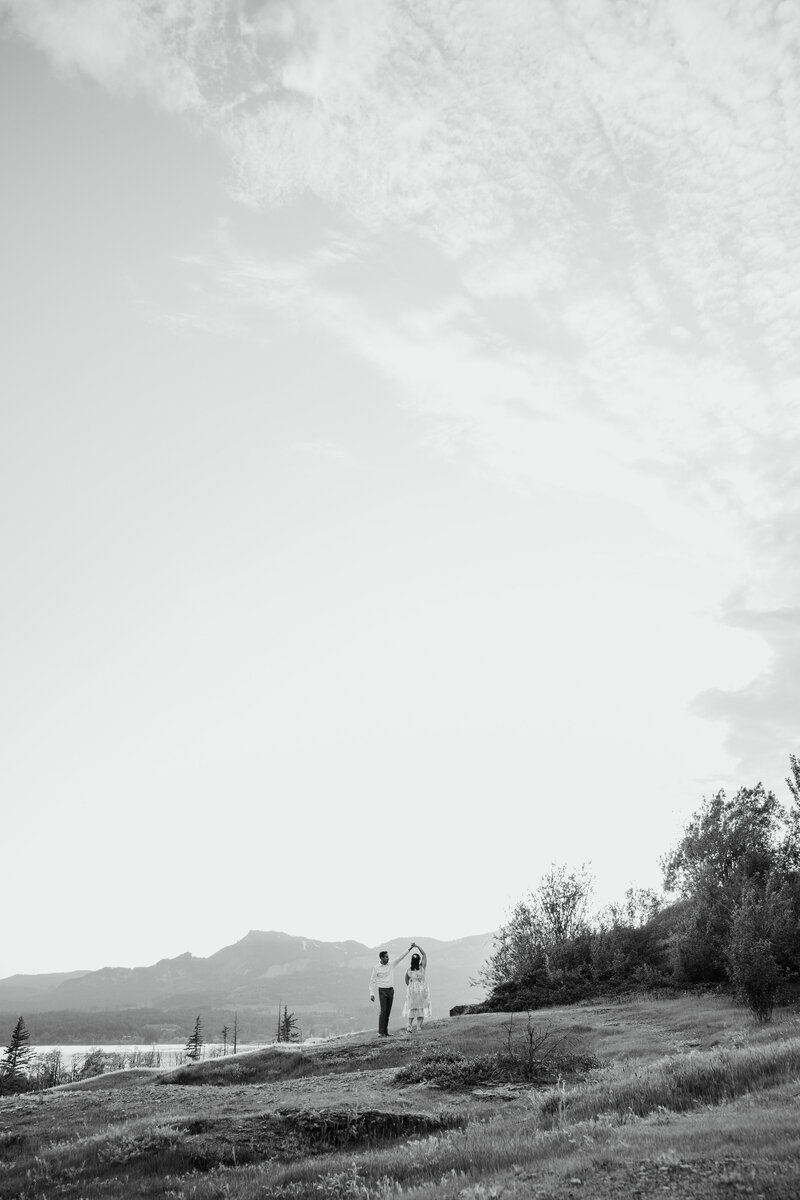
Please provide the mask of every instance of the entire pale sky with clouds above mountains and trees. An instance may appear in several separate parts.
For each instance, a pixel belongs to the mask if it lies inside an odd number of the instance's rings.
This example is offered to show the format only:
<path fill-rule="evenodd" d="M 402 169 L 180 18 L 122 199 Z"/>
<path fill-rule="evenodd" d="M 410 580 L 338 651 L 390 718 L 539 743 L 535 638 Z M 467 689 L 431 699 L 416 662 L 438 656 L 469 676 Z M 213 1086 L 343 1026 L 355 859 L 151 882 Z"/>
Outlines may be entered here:
<path fill-rule="evenodd" d="M 799 152 L 790 0 L 0 0 L 0 977 L 789 800 Z"/>

